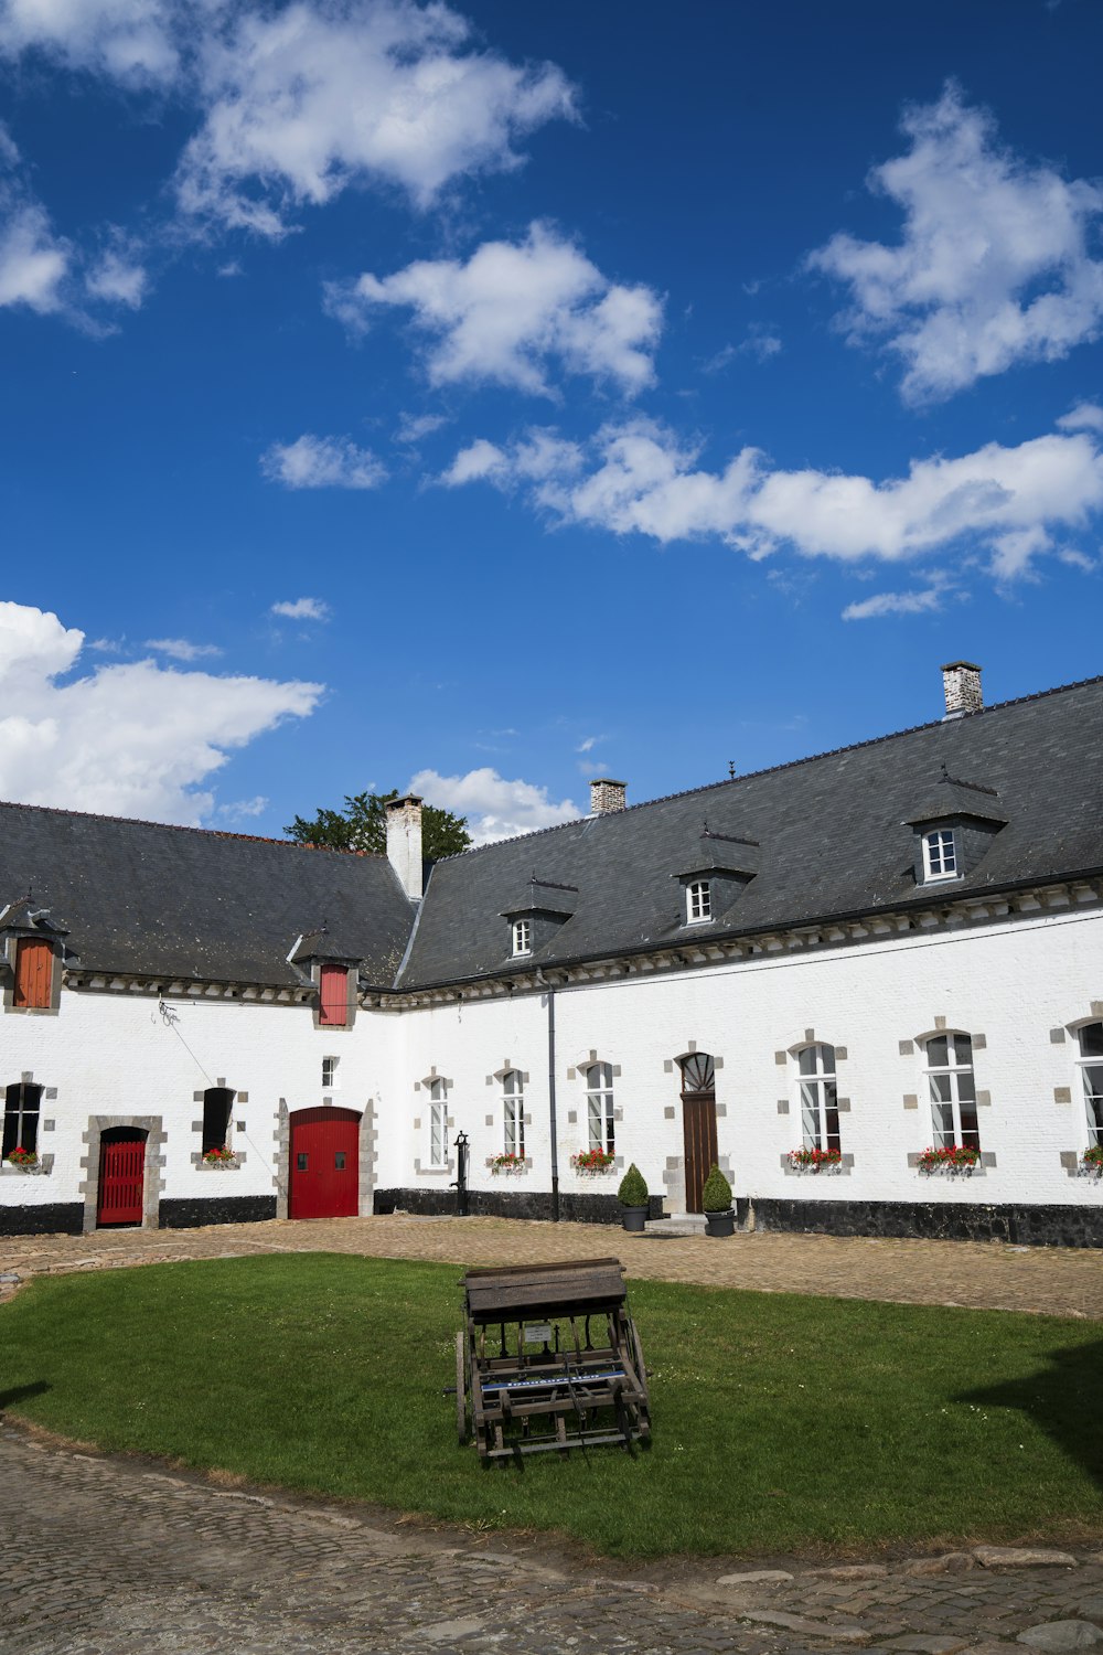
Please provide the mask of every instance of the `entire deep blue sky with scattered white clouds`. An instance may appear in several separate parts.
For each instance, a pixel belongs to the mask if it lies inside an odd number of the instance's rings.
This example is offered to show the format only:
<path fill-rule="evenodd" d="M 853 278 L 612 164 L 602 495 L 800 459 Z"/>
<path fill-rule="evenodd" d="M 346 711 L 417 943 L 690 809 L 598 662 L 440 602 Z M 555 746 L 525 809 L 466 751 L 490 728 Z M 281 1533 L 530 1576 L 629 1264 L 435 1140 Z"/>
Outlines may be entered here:
<path fill-rule="evenodd" d="M 1093 0 L 0 0 L 0 796 L 480 837 L 1103 670 Z"/>

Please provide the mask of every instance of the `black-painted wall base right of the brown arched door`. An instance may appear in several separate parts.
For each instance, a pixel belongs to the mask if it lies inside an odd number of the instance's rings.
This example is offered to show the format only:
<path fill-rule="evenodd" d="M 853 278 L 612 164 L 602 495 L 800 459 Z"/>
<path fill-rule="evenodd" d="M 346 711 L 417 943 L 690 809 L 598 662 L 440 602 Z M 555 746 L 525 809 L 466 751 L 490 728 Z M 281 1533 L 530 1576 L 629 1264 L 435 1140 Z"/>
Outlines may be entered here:
<path fill-rule="evenodd" d="M 1022 1246 L 1103 1246 L 1100 1206 L 982 1206 L 972 1202 L 754 1203 L 757 1230 L 828 1236 L 921 1236 Z"/>

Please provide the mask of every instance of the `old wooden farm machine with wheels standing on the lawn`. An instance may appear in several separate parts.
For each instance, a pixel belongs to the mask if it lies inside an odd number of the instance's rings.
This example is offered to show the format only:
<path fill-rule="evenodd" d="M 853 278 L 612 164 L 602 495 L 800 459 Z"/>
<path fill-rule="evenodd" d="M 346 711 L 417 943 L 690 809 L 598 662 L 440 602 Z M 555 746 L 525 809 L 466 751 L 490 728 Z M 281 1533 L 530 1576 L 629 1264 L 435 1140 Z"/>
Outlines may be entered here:
<path fill-rule="evenodd" d="M 470 1269 L 456 1334 L 456 1430 L 485 1460 L 628 1446 L 650 1435 L 647 1370 L 623 1264 Z"/>

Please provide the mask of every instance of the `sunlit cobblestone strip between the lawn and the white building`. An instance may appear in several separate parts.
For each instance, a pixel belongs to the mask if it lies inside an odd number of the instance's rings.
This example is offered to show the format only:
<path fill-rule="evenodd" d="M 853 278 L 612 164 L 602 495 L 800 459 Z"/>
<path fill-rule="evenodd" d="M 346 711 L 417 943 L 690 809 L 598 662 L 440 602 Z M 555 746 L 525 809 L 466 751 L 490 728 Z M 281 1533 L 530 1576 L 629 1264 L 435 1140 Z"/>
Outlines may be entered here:
<path fill-rule="evenodd" d="M 1090 1248 L 1017 1248 L 994 1241 L 883 1241 L 776 1231 L 640 1235 L 610 1225 L 508 1218 L 319 1218 L 308 1223 L 116 1230 L 84 1236 L 0 1236 L 0 1274 L 104 1269 L 248 1253 L 362 1253 L 456 1264 L 594 1258 L 615 1253 L 628 1276 L 700 1281 L 757 1293 L 815 1293 L 903 1304 L 1103 1319 L 1103 1256 Z M 0 1283 L 0 1294 L 3 1283 Z"/>

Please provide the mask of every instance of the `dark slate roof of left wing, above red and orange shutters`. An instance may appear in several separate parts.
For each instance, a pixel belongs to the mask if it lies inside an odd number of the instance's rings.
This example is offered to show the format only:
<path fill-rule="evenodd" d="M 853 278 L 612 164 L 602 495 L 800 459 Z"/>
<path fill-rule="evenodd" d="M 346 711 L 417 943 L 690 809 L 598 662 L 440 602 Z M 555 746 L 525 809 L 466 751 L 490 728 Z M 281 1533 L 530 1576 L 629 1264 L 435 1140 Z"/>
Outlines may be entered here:
<path fill-rule="evenodd" d="M 89 971 L 294 985 L 288 953 L 394 981 L 413 909 L 382 856 L 0 804 L 0 909 L 48 909 Z M 2 925 L 2 922 L 0 922 Z"/>

